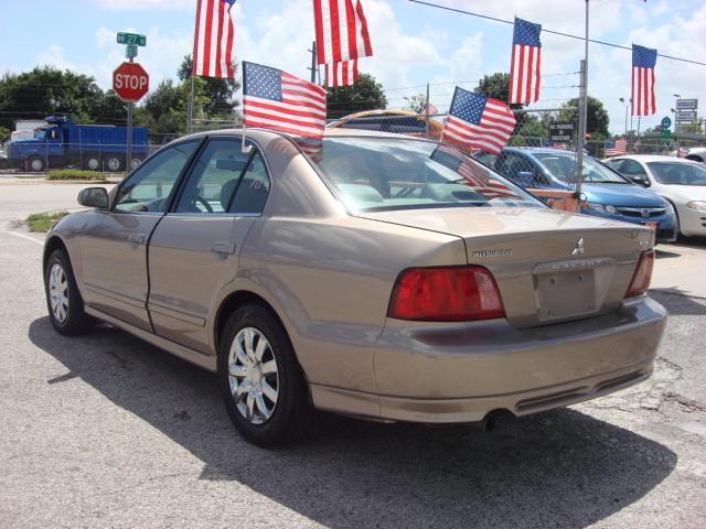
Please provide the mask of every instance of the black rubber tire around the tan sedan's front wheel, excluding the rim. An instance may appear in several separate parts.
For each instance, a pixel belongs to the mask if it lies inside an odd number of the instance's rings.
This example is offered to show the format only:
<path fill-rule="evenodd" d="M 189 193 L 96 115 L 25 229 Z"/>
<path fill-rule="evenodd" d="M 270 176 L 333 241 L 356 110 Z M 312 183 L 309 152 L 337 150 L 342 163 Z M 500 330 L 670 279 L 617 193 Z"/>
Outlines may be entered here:
<path fill-rule="evenodd" d="M 63 273 L 66 283 L 66 303 L 62 303 L 62 306 L 65 307 L 63 316 L 61 311 L 55 313 L 52 306 L 51 284 L 52 274 L 56 271 L 55 267 L 58 267 L 58 270 Z M 58 290 L 61 291 L 61 288 Z M 90 331 L 95 320 L 84 311 L 84 300 L 76 287 L 76 279 L 74 277 L 74 271 L 71 267 L 68 256 L 63 249 L 54 250 L 49 257 L 46 270 L 44 270 L 44 292 L 46 294 L 49 317 L 57 333 L 66 336 L 74 336 L 76 334 L 83 334 Z"/>

